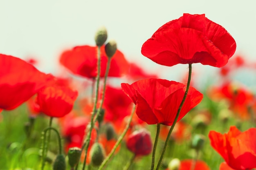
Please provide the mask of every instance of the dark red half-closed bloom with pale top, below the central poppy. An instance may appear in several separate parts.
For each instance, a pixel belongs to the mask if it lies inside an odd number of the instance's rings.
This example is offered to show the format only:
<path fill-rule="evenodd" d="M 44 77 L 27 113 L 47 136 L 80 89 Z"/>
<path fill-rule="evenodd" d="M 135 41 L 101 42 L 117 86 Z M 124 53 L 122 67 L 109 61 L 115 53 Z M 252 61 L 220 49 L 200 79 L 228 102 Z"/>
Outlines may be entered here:
<path fill-rule="evenodd" d="M 132 132 L 126 141 L 128 150 L 136 156 L 148 155 L 152 151 L 152 141 L 148 130 L 141 128 Z"/>

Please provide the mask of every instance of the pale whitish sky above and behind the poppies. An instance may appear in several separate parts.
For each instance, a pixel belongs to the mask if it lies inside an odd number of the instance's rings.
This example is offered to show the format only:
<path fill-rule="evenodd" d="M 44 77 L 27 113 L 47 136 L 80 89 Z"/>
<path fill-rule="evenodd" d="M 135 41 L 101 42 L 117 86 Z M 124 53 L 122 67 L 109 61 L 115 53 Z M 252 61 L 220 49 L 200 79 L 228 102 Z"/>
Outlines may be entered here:
<path fill-rule="evenodd" d="M 56 73 L 64 49 L 94 45 L 95 31 L 106 26 L 108 39 L 117 41 L 128 61 L 178 81 L 186 65 L 160 66 L 140 52 L 160 26 L 183 13 L 205 13 L 233 36 L 236 54 L 256 62 L 255 7 L 254 0 L 0 0 L 0 53 L 34 57 L 40 71 Z M 204 73 L 217 69 L 193 65 Z"/>

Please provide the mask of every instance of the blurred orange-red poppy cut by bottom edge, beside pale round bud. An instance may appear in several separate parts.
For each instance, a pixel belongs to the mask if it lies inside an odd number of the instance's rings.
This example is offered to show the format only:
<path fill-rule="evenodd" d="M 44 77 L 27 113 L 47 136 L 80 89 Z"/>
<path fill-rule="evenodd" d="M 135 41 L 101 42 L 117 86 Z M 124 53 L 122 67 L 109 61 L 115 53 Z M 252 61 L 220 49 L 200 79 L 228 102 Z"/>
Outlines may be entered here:
<path fill-rule="evenodd" d="M 193 164 L 192 159 L 186 159 L 180 161 L 180 168 L 179 170 L 191 170 L 191 166 Z M 195 163 L 194 170 L 210 170 L 209 166 L 204 161 L 197 160 Z"/>

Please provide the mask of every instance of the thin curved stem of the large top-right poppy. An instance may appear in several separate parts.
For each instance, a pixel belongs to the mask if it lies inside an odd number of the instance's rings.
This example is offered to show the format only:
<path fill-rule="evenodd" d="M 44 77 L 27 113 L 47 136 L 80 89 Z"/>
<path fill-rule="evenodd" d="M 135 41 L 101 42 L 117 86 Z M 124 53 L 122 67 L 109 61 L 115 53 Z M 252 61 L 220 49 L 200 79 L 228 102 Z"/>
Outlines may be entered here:
<path fill-rule="evenodd" d="M 185 102 L 185 99 L 186 99 L 186 96 L 187 96 L 187 94 L 188 94 L 189 86 L 190 86 L 190 81 L 191 81 L 191 75 L 192 75 L 192 64 L 189 64 L 189 77 L 188 77 L 188 82 L 187 82 L 187 85 L 186 85 L 186 91 L 185 91 L 184 97 L 183 97 L 183 99 L 182 99 L 182 102 L 181 102 L 181 104 L 180 104 L 180 107 L 178 108 L 177 115 L 176 115 L 176 117 L 175 117 L 175 119 L 174 119 L 174 121 L 173 121 L 173 125 L 171 126 L 171 128 L 170 128 L 170 130 L 169 130 L 169 132 L 168 132 L 168 135 L 167 135 L 167 137 L 166 137 L 166 140 L 165 140 L 165 143 L 164 143 L 164 148 L 163 148 L 163 150 L 162 150 L 162 154 L 161 154 L 161 156 L 160 156 L 160 158 L 159 158 L 159 161 L 158 161 L 158 163 L 157 163 L 157 168 L 156 168 L 156 170 L 159 170 L 159 168 L 160 168 L 160 166 L 161 166 L 162 159 L 163 159 L 163 157 L 164 157 L 164 152 L 165 152 L 166 147 L 167 147 L 167 144 L 168 144 L 168 140 L 169 140 L 169 138 L 170 138 L 170 136 L 171 136 L 171 133 L 172 133 L 172 131 L 173 131 L 173 128 L 174 128 L 174 126 L 175 126 L 175 124 L 176 124 L 176 122 L 177 122 L 177 120 L 178 120 L 178 117 L 179 117 L 179 115 L 180 115 L 180 111 L 181 111 L 181 109 L 182 109 L 182 106 L 183 106 L 183 104 L 184 104 L 184 102 Z"/>

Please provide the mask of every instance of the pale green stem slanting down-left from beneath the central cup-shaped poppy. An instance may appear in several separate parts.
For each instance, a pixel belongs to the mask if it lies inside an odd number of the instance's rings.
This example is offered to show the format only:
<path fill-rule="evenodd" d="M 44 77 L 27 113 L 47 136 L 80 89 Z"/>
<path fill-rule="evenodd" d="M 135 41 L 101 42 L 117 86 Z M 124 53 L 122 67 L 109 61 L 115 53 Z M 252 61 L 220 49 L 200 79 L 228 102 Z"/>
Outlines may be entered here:
<path fill-rule="evenodd" d="M 128 120 L 128 124 L 126 125 L 126 128 L 124 129 L 124 132 L 121 134 L 121 136 L 118 138 L 115 146 L 112 148 L 111 152 L 108 154 L 108 156 L 106 157 L 106 159 L 104 159 L 104 161 L 101 163 L 101 166 L 99 167 L 98 170 L 102 170 L 103 167 L 106 165 L 106 163 L 110 160 L 110 158 L 112 157 L 112 155 L 114 154 L 115 150 L 117 149 L 117 146 L 121 143 L 121 141 L 123 140 L 124 138 L 124 135 L 126 134 L 126 132 L 128 131 L 129 129 L 129 126 L 130 126 L 130 123 L 132 121 L 132 117 L 134 115 L 134 112 L 135 112 L 135 106 L 133 107 L 132 109 L 132 113 L 130 115 L 130 119 Z"/>

